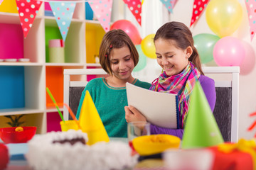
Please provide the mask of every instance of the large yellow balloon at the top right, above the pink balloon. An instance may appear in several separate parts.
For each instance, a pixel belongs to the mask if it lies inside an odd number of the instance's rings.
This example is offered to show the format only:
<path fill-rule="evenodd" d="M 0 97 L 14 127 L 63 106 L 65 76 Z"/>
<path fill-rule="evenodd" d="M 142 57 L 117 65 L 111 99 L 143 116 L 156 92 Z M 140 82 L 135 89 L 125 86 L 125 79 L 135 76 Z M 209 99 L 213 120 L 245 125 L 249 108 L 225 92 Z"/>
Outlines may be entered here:
<path fill-rule="evenodd" d="M 206 21 L 220 38 L 232 35 L 242 22 L 242 6 L 238 0 L 211 0 L 206 7 Z"/>

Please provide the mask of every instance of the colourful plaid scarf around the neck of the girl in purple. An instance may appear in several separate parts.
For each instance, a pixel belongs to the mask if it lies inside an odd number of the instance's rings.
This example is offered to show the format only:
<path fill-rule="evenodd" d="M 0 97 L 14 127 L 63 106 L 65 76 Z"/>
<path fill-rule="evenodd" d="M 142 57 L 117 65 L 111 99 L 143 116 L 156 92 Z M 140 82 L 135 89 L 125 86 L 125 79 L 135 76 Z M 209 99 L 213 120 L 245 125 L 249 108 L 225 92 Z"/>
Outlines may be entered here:
<path fill-rule="evenodd" d="M 159 78 L 153 81 L 150 90 L 178 95 L 178 111 L 181 113 L 183 128 L 188 113 L 188 100 L 193 86 L 200 77 L 200 72 L 192 62 L 179 74 L 169 77 L 163 72 Z"/>

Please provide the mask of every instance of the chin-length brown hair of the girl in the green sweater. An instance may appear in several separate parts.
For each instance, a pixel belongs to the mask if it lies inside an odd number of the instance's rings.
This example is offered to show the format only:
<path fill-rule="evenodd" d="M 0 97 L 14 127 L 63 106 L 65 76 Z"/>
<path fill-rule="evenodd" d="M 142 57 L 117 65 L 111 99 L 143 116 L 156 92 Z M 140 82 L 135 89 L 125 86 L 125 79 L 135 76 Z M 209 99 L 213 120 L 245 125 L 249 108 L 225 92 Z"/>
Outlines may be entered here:
<path fill-rule="evenodd" d="M 127 45 L 132 55 L 132 60 L 134 61 L 134 66 L 136 66 L 139 62 L 139 54 L 137 52 L 134 43 L 131 38 L 124 32 L 124 30 L 110 30 L 105 33 L 102 42 L 100 44 L 100 65 L 102 69 L 105 70 L 108 74 L 112 75 L 112 69 L 110 67 L 110 52 L 113 48 L 121 48 Z"/>

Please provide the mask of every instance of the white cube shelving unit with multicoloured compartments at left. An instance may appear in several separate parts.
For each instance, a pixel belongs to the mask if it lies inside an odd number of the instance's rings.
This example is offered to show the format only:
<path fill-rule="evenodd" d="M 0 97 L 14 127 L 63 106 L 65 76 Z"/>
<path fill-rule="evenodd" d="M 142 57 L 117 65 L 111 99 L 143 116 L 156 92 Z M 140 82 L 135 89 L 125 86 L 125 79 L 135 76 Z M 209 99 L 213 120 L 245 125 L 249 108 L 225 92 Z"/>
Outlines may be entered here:
<path fill-rule="evenodd" d="M 0 79 L 4 82 L 0 84 L 0 127 L 8 126 L 4 115 L 25 114 L 26 125 L 38 127 L 37 133 L 60 130 L 60 115 L 46 87 L 63 112 L 63 70 L 101 67 L 95 63 L 95 56 L 99 54 L 105 30 L 99 21 L 85 19 L 86 3 L 78 2 L 75 6 L 65 39 L 65 62 L 51 63 L 48 41 L 62 39 L 62 35 L 55 16 L 45 16 L 47 3 L 41 5 L 24 38 L 16 0 L 3 1 L 0 6 L 0 59 L 28 58 L 30 62 L 0 62 Z M 95 77 L 89 77 L 92 78 Z M 81 81 L 88 77 L 77 75 L 70 79 Z"/>

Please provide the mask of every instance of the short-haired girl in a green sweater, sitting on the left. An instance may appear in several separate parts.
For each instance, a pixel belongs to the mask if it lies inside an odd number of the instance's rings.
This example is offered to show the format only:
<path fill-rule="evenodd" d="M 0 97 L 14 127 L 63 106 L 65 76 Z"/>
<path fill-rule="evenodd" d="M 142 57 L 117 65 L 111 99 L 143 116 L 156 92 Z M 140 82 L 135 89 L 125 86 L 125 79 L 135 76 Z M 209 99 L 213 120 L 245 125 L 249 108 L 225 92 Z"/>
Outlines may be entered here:
<path fill-rule="evenodd" d="M 151 84 L 132 77 L 132 70 L 139 62 L 139 54 L 132 40 L 123 30 L 110 30 L 100 45 L 100 64 L 109 74 L 107 78 L 95 78 L 82 91 L 78 112 L 79 118 L 85 91 L 89 91 L 109 137 L 127 137 L 127 121 L 124 106 L 127 106 L 127 82 L 149 89 Z"/>

